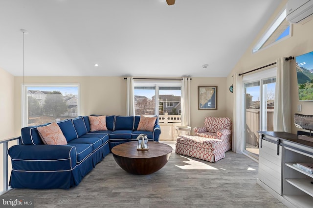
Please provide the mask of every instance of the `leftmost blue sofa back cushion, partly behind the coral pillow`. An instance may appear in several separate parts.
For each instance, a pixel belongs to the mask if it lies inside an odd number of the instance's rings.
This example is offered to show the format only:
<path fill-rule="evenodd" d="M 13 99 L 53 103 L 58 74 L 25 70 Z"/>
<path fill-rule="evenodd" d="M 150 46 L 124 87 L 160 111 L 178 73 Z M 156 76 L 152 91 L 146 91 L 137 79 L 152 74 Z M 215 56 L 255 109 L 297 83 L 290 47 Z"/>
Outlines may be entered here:
<path fill-rule="evenodd" d="M 30 126 L 24 127 L 21 130 L 21 141 L 23 145 L 42 145 L 44 144 L 37 127 L 46 126 L 48 124 L 39 125 L 39 126 Z"/>

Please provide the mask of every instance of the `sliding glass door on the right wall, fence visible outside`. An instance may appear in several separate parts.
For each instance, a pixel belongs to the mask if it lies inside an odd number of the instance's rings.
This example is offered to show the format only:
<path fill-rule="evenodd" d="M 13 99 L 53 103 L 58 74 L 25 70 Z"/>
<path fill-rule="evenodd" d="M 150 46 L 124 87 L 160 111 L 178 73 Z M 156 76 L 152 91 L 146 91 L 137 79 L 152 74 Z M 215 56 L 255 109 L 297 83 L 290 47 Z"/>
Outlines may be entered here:
<path fill-rule="evenodd" d="M 244 151 L 259 155 L 258 131 L 273 131 L 276 68 L 244 79 Z"/>

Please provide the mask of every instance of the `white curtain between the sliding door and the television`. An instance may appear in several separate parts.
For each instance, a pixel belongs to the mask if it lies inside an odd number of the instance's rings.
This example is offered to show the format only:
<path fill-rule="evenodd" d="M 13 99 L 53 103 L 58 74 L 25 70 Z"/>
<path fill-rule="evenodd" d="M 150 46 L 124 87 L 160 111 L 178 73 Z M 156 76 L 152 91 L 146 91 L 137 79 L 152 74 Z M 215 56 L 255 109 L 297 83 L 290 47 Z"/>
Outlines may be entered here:
<path fill-rule="evenodd" d="M 291 132 L 290 61 L 277 60 L 274 98 L 274 131 Z"/>

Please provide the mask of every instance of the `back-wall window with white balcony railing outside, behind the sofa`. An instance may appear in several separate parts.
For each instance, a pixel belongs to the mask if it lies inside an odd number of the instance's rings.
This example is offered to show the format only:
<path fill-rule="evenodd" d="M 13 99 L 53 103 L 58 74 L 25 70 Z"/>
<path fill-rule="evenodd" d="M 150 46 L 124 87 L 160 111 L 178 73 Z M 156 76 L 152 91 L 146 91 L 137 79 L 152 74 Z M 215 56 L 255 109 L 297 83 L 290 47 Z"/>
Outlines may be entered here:
<path fill-rule="evenodd" d="M 134 80 L 134 108 L 135 115 L 157 115 L 160 139 L 174 140 L 181 124 L 181 80 Z"/>

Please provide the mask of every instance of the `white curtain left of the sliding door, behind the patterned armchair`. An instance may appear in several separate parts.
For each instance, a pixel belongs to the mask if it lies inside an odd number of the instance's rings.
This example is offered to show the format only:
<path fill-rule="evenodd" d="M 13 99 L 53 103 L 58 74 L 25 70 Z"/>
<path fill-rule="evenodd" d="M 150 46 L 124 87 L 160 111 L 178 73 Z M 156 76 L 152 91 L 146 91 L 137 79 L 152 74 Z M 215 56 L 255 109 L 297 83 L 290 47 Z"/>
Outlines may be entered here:
<path fill-rule="evenodd" d="M 242 105 L 242 76 L 233 75 L 233 138 L 232 150 L 236 153 L 243 152 L 243 105 Z"/>

